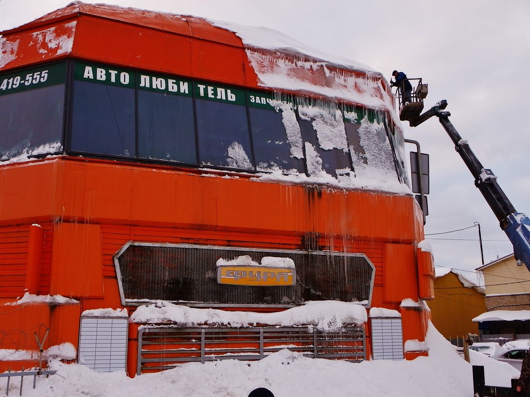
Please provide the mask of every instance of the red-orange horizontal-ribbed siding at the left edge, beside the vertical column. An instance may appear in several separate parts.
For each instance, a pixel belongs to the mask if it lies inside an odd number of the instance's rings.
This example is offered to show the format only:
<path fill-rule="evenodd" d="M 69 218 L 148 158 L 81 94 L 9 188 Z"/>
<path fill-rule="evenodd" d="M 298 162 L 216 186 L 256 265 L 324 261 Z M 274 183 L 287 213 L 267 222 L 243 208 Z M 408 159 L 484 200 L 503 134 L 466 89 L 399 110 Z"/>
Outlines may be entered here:
<path fill-rule="evenodd" d="M 0 297 L 24 294 L 29 225 L 0 228 Z"/>

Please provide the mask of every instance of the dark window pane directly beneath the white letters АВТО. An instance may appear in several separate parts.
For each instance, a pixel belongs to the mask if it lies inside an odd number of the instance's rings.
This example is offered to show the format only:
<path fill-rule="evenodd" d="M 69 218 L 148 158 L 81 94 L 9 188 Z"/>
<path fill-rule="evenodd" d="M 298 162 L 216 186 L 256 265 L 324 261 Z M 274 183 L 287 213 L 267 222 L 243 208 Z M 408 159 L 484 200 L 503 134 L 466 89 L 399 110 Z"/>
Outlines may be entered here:
<path fill-rule="evenodd" d="M 134 89 L 76 80 L 71 149 L 135 157 Z"/>

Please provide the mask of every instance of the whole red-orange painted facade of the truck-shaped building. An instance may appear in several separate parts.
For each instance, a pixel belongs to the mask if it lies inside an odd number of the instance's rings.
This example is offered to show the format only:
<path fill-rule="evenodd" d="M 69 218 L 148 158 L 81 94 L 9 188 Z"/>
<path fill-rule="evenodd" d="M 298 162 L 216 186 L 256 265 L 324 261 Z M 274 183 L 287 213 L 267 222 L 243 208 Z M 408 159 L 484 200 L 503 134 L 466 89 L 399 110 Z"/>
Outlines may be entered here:
<path fill-rule="evenodd" d="M 40 51 L 39 32 L 53 32 L 70 47 L 48 45 Z M 0 73 L 55 61 L 71 70 L 73 62 L 81 61 L 263 89 L 241 39 L 195 17 L 74 4 L 2 34 L 7 62 Z M 307 78 L 326 84 L 318 69 Z M 390 112 L 384 114 L 393 124 Z M 367 310 L 399 312 L 403 342 L 425 340 L 428 313 L 421 304 L 401 304 L 432 297 L 432 258 L 417 248 L 423 225 L 411 194 L 266 182 L 252 172 L 78 156 L 66 149 L 51 157 L 0 163 L 0 348 L 37 350 L 33 334 L 48 328 L 45 347 L 70 342 L 77 348 L 84 311 L 125 308 L 133 313 L 137 306 L 124 304 L 120 295 L 114 260 L 128 242 L 364 254 L 375 266 Z M 24 293 L 61 295 L 78 303 L 13 305 Z M 364 324 L 368 356 L 369 321 Z M 129 324 L 131 376 L 138 364 L 141 325 Z M 418 354 L 427 353 L 404 353 L 409 359 Z M 13 362 L 0 365 L 16 367 Z"/>

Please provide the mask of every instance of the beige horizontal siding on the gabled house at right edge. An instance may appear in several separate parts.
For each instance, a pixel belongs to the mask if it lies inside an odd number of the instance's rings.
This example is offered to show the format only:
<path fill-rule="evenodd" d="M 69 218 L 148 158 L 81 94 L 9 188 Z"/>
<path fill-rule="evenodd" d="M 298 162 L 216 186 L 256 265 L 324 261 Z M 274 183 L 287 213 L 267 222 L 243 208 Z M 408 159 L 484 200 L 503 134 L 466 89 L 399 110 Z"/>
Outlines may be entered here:
<path fill-rule="evenodd" d="M 483 270 L 486 295 L 530 293 L 530 272 L 513 257 Z"/>

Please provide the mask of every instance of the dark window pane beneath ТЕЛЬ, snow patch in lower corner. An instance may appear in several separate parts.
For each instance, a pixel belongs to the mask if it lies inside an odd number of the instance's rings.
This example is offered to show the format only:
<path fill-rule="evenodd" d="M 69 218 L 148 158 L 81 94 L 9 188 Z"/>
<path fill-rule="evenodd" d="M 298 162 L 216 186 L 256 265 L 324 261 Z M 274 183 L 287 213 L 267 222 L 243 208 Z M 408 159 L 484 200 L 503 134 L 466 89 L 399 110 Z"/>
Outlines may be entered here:
<path fill-rule="evenodd" d="M 245 106 L 196 100 L 203 165 L 254 169 Z"/>

